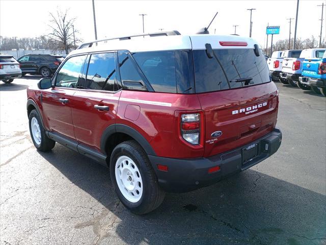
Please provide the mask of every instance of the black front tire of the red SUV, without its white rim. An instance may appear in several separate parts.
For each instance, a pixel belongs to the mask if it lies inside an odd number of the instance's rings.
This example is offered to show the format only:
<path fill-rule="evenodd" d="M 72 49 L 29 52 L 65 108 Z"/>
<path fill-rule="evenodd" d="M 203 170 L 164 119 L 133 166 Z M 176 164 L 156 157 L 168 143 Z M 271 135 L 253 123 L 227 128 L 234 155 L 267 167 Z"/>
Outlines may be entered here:
<path fill-rule="evenodd" d="M 39 144 L 35 141 L 35 139 L 33 137 L 32 126 L 31 126 L 31 122 L 32 122 L 33 118 L 36 118 L 36 120 L 39 124 L 39 128 L 40 128 L 41 142 Z M 31 138 L 32 138 L 33 143 L 37 150 L 39 150 L 41 152 L 47 152 L 47 151 L 50 151 L 53 147 L 55 147 L 56 141 L 47 137 L 44 127 L 43 127 L 43 124 L 42 124 L 42 120 L 41 120 L 40 115 L 36 109 L 32 110 L 29 115 L 29 126 L 30 126 Z"/>

